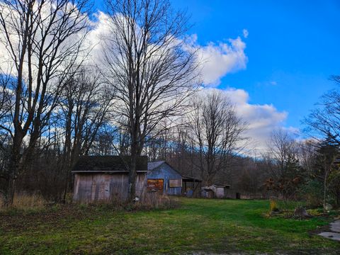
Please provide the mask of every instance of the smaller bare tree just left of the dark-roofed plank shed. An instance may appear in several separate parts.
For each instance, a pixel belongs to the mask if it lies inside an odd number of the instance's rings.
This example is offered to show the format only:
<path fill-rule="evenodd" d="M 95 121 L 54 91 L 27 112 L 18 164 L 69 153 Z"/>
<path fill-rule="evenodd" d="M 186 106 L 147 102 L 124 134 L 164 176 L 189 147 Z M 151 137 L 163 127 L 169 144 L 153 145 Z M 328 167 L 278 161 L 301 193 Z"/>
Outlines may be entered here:
<path fill-rule="evenodd" d="M 62 90 L 60 108 L 64 135 L 64 199 L 69 186 L 69 175 L 80 155 L 87 155 L 98 131 L 107 123 L 114 93 L 101 84 L 98 74 L 81 69 L 67 81 Z M 57 116 L 60 117 L 60 116 Z"/>

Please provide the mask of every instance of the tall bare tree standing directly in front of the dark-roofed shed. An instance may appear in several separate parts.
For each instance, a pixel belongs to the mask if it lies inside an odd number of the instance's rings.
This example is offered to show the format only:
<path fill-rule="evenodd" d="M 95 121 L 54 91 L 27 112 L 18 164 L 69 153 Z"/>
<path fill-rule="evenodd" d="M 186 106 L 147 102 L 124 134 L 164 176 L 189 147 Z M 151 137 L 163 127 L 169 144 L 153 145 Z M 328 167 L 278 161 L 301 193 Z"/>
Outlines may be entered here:
<path fill-rule="evenodd" d="M 187 19 L 167 0 L 108 0 L 111 34 L 103 38 L 104 72 L 117 93 L 118 125 L 130 135 L 130 198 L 136 157 L 164 118 L 183 114 L 198 85 L 196 52 L 186 44 Z"/>

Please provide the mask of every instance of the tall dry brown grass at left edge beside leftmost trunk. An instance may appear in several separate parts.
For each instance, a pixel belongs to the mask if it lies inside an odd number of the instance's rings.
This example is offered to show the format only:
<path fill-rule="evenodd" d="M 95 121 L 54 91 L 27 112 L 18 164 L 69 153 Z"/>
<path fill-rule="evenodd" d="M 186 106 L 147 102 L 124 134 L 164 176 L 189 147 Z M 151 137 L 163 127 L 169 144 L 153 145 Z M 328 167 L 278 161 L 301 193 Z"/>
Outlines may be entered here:
<path fill-rule="evenodd" d="M 20 193 L 13 198 L 13 205 L 9 209 L 31 210 L 42 209 L 46 205 L 46 200 L 38 194 Z M 4 199 L 0 198 L 0 210 L 8 210 L 4 207 Z"/>

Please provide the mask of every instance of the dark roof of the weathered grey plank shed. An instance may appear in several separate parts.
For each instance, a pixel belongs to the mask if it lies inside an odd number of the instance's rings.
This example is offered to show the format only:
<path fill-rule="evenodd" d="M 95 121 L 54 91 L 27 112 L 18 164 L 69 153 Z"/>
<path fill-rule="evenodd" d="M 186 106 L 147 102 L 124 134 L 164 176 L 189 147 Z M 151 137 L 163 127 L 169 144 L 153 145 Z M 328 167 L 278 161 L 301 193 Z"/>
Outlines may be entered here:
<path fill-rule="evenodd" d="M 128 173 L 130 156 L 83 156 L 74 165 L 73 173 Z M 147 172 L 147 157 L 137 157 L 137 172 Z"/>

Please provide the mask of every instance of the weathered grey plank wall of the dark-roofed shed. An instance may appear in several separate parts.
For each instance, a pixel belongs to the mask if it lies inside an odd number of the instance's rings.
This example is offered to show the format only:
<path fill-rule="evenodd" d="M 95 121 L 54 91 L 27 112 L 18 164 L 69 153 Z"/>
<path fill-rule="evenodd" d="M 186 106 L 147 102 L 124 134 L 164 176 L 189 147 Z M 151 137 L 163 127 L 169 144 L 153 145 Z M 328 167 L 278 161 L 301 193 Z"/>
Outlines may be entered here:
<path fill-rule="evenodd" d="M 146 174 L 137 174 L 137 196 L 145 192 L 145 181 Z M 129 176 L 126 173 L 77 173 L 74 176 L 73 200 L 81 203 L 125 201 L 128 199 L 128 188 Z"/>

